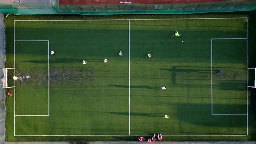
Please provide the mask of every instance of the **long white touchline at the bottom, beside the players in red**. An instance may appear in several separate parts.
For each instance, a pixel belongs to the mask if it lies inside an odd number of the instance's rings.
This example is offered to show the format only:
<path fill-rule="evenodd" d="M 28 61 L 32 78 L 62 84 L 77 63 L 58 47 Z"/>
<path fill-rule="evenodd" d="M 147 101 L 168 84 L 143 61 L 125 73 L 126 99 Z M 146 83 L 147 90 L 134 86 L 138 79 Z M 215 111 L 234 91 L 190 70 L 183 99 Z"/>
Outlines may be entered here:
<path fill-rule="evenodd" d="M 16 135 L 16 137 L 65 137 L 65 136 L 153 136 L 153 135 L 143 135 L 143 134 L 102 134 L 102 135 Z M 247 136 L 246 134 L 166 134 L 162 136 Z"/>

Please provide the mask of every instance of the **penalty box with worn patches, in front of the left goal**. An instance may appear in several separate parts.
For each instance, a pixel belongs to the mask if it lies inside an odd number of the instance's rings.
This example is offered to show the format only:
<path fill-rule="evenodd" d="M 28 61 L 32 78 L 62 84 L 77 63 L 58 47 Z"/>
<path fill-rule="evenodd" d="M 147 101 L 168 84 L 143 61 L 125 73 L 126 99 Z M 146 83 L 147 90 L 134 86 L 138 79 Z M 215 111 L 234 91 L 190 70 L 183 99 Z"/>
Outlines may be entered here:
<path fill-rule="evenodd" d="M 31 56 L 35 53 L 36 56 Z M 24 57 L 24 55 L 26 56 Z M 14 67 L 17 76 L 30 75 L 35 76 L 37 80 L 48 77 L 48 82 L 39 87 L 36 84 L 30 84 L 31 81 L 26 83 L 30 79 L 16 80 L 16 88 L 14 89 L 15 116 L 49 116 L 49 40 L 16 40 Z M 33 71 L 37 68 L 47 70 L 44 75 L 40 76 L 24 72 L 26 69 Z M 31 86 L 36 88 L 30 88 Z"/>

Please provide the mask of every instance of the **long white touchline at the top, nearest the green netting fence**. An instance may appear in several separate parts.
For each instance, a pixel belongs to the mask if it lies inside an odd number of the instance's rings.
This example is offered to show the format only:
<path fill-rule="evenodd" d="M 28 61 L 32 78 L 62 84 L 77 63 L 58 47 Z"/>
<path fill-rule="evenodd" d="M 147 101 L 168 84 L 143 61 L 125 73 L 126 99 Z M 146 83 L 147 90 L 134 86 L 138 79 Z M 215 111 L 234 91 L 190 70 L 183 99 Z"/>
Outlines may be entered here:
<path fill-rule="evenodd" d="M 220 17 L 220 18 L 181 18 L 181 19 L 118 19 L 118 20 L 212 20 L 212 19 L 247 19 L 247 17 Z M 113 19 L 117 20 L 117 19 Z M 112 21 L 112 20 L 14 20 L 14 22 L 43 22 L 43 21 Z"/>

